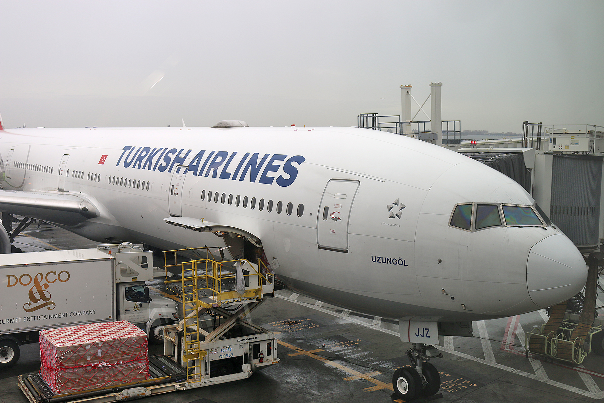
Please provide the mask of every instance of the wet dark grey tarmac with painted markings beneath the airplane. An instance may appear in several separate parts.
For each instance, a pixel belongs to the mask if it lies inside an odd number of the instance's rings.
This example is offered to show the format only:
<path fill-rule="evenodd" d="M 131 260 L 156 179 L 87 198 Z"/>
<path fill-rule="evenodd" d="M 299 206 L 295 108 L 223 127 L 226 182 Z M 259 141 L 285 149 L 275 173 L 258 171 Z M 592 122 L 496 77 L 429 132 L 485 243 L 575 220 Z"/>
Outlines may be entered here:
<path fill-rule="evenodd" d="M 94 248 L 96 243 L 42 223 L 16 237 L 24 252 Z M 157 265 L 157 263 L 156 263 Z M 600 279 L 602 285 L 604 281 Z M 162 279 L 149 283 L 165 291 Z M 597 306 L 604 305 L 602 300 Z M 604 311 L 600 309 L 600 317 Z M 249 318 L 279 332 L 280 363 L 244 381 L 152 396 L 141 402 L 390 402 L 394 371 L 409 364 L 397 321 L 368 317 L 295 294 L 275 292 Z M 525 332 L 547 319 L 545 311 L 474 323 L 474 337 L 445 337 L 443 358 L 431 363 L 441 376 L 434 402 L 604 401 L 604 356 L 591 353 L 579 367 L 525 356 Z M 150 346 L 150 354 L 162 353 Z M 17 375 L 39 369 L 39 345 L 22 346 L 21 359 L 0 370 L 0 403 L 25 403 Z"/>

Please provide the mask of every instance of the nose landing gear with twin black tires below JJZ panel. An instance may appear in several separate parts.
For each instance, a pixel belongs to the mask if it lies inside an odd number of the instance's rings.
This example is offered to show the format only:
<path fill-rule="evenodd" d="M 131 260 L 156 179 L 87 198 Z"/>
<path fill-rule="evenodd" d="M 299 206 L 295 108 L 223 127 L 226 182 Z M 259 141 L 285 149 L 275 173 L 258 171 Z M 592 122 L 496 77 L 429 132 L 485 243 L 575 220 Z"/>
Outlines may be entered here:
<path fill-rule="evenodd" d="M 412 346 L 406 352 L 411 365 L 397 369 L 392 376 L 393 400 L 408 402 L 422 397 L 432 400 L 440 389 L 440 375 L 428 361 L 430 358 L 442 358 L 443 355 L 434 346 L 423 343 L 413 343 Z M 431 396 L 434 397 L 431 399 Z"/>

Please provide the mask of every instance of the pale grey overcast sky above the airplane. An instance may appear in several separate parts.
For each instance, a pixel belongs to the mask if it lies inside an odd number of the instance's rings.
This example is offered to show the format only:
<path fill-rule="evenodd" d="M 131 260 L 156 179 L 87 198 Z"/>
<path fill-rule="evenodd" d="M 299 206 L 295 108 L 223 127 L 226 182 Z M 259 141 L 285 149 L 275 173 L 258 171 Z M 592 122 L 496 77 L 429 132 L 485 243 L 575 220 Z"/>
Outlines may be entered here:
<path fill-rule="evenodd" d="M 443 120 L 464 130 L 604 125 L 603 17 L 600 0 L 0 0 L 0 113 L 7 127 L 356 126 L 399 115 L 401 84 L 421 103 L 442 82 Z"/>

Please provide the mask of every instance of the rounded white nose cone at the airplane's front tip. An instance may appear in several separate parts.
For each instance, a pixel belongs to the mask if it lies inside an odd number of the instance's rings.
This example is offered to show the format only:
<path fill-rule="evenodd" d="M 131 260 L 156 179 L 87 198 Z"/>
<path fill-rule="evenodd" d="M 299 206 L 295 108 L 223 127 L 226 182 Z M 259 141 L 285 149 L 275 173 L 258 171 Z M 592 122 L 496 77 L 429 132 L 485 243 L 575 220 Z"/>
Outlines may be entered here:
<path fill-rule="evenodd" d="M 542 239 L 528 253 L 528 295 L 539 308 L 572 297 L 585 286 L 586 280 L 585 260 L 563 234 Z"/>

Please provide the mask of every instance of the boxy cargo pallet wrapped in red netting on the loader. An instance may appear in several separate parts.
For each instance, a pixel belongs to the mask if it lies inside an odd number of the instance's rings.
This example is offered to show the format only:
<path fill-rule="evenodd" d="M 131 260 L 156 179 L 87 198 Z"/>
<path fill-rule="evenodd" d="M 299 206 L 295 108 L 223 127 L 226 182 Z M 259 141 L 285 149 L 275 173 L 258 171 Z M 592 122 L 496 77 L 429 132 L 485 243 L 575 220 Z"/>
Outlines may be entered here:
<path fill-rule="evenodd" d="M 125 320 L 40 332 L 40 376 L 60 395 L 149 378 L 147 334 Z"/>

